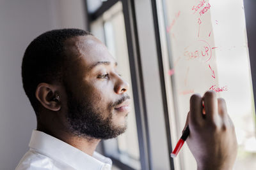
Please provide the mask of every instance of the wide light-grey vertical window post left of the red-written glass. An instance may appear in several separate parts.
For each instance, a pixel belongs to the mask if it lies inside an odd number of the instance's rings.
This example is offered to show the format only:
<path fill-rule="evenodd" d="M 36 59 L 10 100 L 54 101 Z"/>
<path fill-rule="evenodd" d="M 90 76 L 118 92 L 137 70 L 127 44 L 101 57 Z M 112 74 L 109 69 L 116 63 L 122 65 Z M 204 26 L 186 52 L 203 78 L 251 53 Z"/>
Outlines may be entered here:
<path fill-rule="evenodd" d="M 156 18 L 156 4 L 150 0 L 134 1 L 140 45 L 145 100 L 147 101 L 151 169 L 173 169 L 166 94 L 161 62 L 161 46 Z M 168 139 L 169 138 L 169 139 Z"/>

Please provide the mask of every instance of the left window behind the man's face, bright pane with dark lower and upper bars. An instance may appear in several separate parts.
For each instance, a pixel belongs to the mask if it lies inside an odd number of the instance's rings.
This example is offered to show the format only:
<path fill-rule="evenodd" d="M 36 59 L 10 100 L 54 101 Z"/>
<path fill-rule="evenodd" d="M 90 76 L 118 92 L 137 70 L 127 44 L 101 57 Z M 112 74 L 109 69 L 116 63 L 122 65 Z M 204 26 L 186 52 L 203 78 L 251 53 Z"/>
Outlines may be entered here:
<path fill-rule="evenodd" d="M 106 4 L 103 3 L 102 6 L 106 6 Z M 108 10 L 99 16 L 92 14 L 95 18 L 91 18 L 91 32 L 105 43 L 109 52 L 118 62 L 118 72 L 129 83 L 130 89 L 127 93 L 134 101 L 122 2 L 112 1 L 111 5 L 107 6 L 109 6 Z M 88 8 L 90 8 L 90 3 L 88 3 Z M 98 8 L 102 9 L 102 7 Z M 141 169 L 134 103 L 131 103 L 131 108 L 127 117 L 126 132 L 116 139 L 103 141 L 104 153 L 121 169 Z"/>

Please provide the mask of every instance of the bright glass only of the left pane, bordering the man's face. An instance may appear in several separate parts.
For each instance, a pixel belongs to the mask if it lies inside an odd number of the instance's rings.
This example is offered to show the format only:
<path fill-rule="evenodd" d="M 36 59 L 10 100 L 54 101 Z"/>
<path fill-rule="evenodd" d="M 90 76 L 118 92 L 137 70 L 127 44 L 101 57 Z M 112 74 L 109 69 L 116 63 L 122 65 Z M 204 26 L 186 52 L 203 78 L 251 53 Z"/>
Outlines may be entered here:
<path fill-rule="evenodd" d="M 118 71 L 120 74 L 122 74 L 124 80 L 129 83 L 130 89 L 127 91 L 127 93 L 133 101 L 122 3 L 116 3 L 108 11 L 106 11 L 101 18 L 93 22 L 91 27 L 92 33 L 96 37 L 99 35 L 101 40 L 104 39 L 106 46 L 108 46 L 109 52 L 118 62 Z M 102 31 L 104 32 L 104 38 L 102 36 Z M 134 162 L 130 162 L 129 166 L 132 165 L 136 169 L 140 169 L 140 152 L 133 103 L 131 104 L 131 112 L 127 117 L 127 131 L 118 136 L 117 143 L 118 151 L 120 152 L 120 159 L 124 160 L 124 162 L 131 161 L 128 160 L 127 157 L 136 160 Z"/>

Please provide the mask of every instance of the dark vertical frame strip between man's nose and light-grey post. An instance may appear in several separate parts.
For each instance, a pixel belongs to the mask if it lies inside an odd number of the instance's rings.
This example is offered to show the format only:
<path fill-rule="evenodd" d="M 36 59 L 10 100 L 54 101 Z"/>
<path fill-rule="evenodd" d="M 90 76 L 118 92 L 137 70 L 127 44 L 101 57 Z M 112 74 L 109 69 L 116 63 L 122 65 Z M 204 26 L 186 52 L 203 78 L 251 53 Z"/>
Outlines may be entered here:
<path fill-rule="evenodd" d="M 141 70 L 140 48 L 138 32 L 136 28 L 136 15 L 134 1 L 122 0 L 127 48 L 131 68 L 132 89 L 134 96 L 134 108 L 136 113 L 136 125 L 140 148 L 141 169 L 150 168 L 150 140 L 148 134 L 147 108 L 144 92 L 144 81 Z"/>

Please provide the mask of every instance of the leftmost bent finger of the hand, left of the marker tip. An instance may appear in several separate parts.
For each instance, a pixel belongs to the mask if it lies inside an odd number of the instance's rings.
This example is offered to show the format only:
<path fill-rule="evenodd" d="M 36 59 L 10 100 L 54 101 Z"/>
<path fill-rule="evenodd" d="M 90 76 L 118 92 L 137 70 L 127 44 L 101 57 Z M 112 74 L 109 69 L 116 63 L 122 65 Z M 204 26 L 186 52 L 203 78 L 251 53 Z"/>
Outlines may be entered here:
<path fill-rule="evenodd" d="M 202 117 L 202 97 L 198 94 L 193 94 L 190 98 L 189 121 L 195 125 L 202 125 L 204 120 Z"/>

